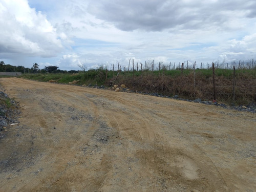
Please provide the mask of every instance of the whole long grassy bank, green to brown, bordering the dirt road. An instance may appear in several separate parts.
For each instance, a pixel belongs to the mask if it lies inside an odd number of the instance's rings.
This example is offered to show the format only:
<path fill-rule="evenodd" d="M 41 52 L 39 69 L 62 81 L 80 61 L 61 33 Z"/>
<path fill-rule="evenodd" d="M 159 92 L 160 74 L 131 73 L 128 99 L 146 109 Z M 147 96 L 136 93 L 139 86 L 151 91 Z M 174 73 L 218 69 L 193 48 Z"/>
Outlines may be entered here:
<path fill-rule="evenodd" d="M 216 69 L 216 97 L 226 104 L 249 104 L 256 102 L 256 68 L 238 69 L 233 76 L 232 69 Z M 173 97 L 214 100 L 212 69 L 176 69 L 109 71 L 104 68 L 80 71 L 79 73 L 24 74 L 22 78 L 72 83 L 79 86 L 104 86 L 125 84 L 130 90 L 157 93 Z M 234 77 L 234 78 L 233 78 Z M 233 82 L 233 80 L 235 82 Z M 235 97 L 234 94 L 235 93 Z"/>

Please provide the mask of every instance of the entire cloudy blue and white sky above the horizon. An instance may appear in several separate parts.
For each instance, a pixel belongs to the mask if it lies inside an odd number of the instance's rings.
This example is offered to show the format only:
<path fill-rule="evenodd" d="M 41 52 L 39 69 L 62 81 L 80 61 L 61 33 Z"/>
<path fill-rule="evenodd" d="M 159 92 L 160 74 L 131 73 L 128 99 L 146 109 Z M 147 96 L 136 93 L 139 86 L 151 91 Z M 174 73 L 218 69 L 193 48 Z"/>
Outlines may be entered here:
<path fill-rule="evenodd" d="M 256 59 L 255 0 L 0 0 L 0 60 L 79 70 Z"/>

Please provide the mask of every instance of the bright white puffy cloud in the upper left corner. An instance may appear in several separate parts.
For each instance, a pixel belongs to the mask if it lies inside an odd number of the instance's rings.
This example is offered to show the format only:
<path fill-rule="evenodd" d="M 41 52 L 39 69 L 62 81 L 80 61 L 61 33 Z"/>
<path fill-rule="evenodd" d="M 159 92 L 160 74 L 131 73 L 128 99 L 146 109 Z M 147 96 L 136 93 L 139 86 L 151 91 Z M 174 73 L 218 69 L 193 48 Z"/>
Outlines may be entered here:
<path fill-rule="evenodd" d="M 46 15 L 29 7 L 27 0 L 19 0 L 18 3 L 15 0 L 2 0 L 0 10 L 2 54 L 52 57 L 61 51 L 61 40 L 56 30 Z"/>

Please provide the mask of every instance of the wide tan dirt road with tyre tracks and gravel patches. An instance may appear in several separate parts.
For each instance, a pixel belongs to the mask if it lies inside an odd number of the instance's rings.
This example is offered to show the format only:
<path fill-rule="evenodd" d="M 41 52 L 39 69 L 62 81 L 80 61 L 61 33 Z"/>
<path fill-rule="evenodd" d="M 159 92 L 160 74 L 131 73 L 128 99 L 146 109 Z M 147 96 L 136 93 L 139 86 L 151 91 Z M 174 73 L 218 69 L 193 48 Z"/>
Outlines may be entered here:
<path fill-rule="evenodd" d="M 0 191 L 255 191 L 256 114 L 1 78 Z"/>

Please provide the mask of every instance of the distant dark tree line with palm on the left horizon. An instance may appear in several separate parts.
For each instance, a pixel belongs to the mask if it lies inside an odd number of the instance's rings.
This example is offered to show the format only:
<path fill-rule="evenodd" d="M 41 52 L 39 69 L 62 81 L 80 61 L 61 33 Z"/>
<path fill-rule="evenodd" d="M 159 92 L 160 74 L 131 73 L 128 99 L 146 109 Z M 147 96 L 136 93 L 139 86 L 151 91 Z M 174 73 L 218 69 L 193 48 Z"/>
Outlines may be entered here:
<path fill-rule="evenodd" d="M 39 69 L 39 65 L 35 62 L 31 68 L 24 66 L 12 66 L 0 61 L 0 72 L 21 72 L 21 73 L 78 73 L 76 70 L 59 70 L 57 66 L 45 66 L 44 69 Z"/>

